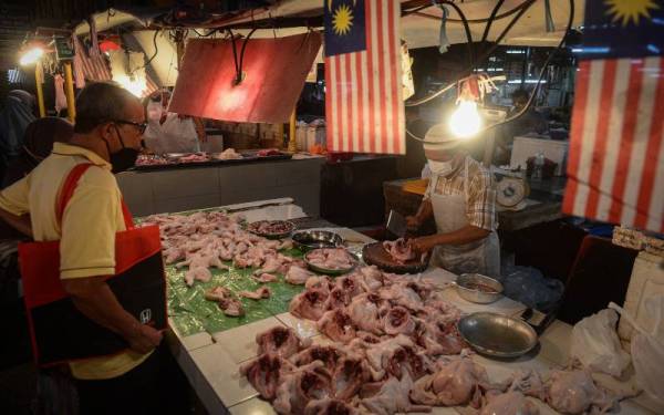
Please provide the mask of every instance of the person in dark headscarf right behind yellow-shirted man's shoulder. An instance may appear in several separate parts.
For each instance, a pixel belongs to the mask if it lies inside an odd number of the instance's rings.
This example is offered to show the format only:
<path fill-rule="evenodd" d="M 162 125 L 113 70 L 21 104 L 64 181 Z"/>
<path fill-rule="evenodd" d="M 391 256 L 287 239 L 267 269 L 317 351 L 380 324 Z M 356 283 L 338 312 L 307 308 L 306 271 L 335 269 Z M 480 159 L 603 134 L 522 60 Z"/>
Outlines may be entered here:
<path fill-rule="evenodd" d="M 28 125 L 21 153 L 9 163 L 2 188 L 25 177 L 53 149 L 53 143 L 68 143 L 74 134 L 74 126 L 64 118 L 48 116 Z"/>

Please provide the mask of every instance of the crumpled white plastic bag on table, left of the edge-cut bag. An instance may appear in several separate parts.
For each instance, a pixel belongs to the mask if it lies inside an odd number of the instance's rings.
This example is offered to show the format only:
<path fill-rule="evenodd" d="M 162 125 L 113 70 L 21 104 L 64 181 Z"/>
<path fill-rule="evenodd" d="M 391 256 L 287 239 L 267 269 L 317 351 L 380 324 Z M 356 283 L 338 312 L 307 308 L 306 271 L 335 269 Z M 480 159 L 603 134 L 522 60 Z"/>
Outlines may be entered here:
<path fill-rule="evenodd" d="M 594 372 L 619 377 L 630 364 L 615 333 L 618 313 L 602 310 L 581 320 L 572 329 L 571 355 Z"/>

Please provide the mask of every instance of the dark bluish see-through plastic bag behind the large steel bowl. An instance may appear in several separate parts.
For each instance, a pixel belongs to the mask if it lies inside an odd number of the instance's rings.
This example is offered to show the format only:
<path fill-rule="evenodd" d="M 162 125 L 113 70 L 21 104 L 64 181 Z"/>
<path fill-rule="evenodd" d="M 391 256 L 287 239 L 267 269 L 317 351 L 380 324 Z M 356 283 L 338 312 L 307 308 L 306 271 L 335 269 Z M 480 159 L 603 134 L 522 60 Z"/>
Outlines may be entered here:
<path fill-rule="evenodd" d="M 562 282 L 546 278 L 531 267 L 505 266 L 499 280 L 505 287 L 505 295 L 542 312 L 554 308 L 564 290 Z"/>

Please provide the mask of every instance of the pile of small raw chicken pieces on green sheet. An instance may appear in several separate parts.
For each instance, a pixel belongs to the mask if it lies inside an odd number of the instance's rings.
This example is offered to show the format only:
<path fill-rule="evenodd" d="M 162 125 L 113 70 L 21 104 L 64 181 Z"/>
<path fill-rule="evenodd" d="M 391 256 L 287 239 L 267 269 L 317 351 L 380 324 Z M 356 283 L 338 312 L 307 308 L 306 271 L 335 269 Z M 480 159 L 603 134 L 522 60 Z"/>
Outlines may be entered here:
<path fill-rule="evenodd" d="M 313 276 L 304 261 L 279 252 L 292 248 L 291 240 L 269 240 L 248 232 L 240 226 L 241 219 L 219 211 L 154 215 L 142 226 L 159 226 L 164 261 L 178 268 L 188 267 L 185 282 L 189 287 L 195 281 L 210 281 L 210 268 L 229 269 L 224 261 L 232 261 L 235 268 L 256 268 L 252 278 L 261 283 L 277 281 L 277 273 L 284 274 L 284 280 L 293 284 L 303 284 Z M 255 300 L 270 294 L 266 286 L 238 293 Z M 217 302 L 226 315 L 245 313 L 239 299 L 225 287 L 210 289 L 205 298 Z"/>

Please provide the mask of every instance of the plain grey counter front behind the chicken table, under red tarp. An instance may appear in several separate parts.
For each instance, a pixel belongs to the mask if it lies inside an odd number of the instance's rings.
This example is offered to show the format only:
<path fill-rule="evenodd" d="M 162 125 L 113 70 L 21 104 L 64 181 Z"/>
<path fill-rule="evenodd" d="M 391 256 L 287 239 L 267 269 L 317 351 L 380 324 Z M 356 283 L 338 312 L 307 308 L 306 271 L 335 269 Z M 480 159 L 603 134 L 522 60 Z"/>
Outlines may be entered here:
<path fill-rule="evenodd" d="M 292 197 L 312 217 L 320 214 L 322 157 L 242 163 L 189 163 L 117 175 L 136 216 Z"/>

